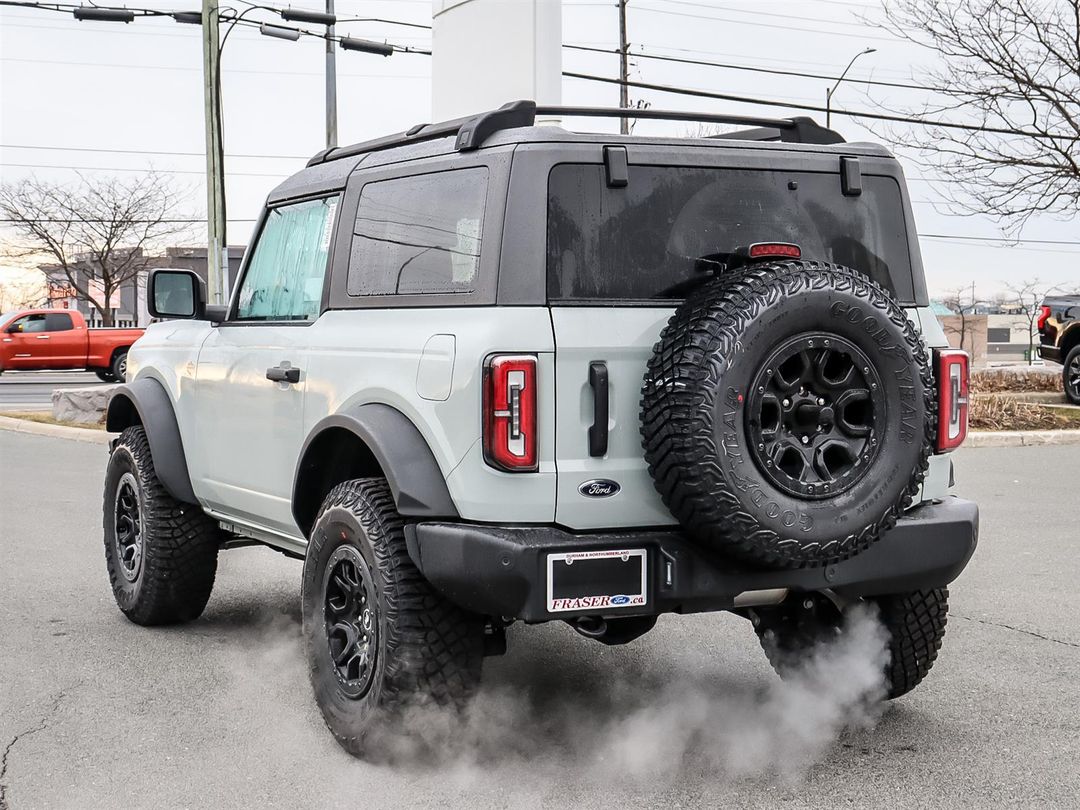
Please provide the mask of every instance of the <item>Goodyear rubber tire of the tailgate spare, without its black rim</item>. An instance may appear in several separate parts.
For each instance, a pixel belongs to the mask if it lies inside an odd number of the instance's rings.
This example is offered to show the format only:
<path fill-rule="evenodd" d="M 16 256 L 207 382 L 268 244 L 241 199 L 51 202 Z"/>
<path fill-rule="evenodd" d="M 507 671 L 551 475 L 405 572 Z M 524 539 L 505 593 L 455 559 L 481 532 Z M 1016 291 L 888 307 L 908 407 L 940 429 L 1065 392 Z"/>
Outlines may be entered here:
<path fill-rule="evenodd" d="M 770 481 L 747 420 L 770 353 L 816 333 L 862 353 L 888 407 L 868 472 L 839 495 L 808 499 Z M 922 342 L 887 291 L 849 268 L 779 261 L 717 278 L 677 308 L 648 364 L 642 437 L 657 490 L 694 539 L 767 567 L 821 566 L 868 548 L 912 502 L 933 404 Z"/>

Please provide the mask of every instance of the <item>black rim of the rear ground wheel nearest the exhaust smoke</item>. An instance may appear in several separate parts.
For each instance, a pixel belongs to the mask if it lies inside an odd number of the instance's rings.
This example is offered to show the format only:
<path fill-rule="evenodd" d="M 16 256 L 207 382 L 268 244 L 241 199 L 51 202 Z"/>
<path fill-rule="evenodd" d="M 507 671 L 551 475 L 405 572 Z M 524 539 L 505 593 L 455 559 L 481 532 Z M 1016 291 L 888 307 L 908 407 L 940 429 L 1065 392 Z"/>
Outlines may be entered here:
<path fill-rule="evenodd" d="M 379 610 L 372 572 L 360 552 L 342 545 L 323 580 L 326 642 L 338 685 L 353 700 L 367 694 L 379 650 Z"/>

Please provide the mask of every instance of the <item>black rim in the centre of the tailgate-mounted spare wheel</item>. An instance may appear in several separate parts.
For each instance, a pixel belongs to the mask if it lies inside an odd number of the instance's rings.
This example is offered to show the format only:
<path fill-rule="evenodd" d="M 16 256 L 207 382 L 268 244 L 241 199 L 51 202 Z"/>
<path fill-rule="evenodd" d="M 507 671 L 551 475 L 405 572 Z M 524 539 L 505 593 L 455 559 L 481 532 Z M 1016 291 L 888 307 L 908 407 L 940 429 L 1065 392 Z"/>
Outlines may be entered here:
<path fill-rule="evenodd" d="M 881 379 L 862 350 L 838 335 L 797 335 L 769 355 L 751 388 L 751 455 L 780 490 L 832 498 L 866 475 L 885 418 Z"/>

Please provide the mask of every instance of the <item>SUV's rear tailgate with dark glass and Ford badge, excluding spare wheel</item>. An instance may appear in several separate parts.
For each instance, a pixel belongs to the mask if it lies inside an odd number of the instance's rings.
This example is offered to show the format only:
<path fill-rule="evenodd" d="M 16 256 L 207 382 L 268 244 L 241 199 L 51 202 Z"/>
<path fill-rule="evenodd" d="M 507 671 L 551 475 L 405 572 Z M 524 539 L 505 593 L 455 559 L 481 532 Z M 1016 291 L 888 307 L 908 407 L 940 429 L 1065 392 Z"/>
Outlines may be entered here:
<path fill-rule="evenodd" d="M 640 390 L 652 347 L 685 295 L 680 285 L 710 267 L 702 259 L 758 242 L 794 243 L 804 258 L 861 270 L 912 306 L 896 177 L 865 173 L 852 194 L 832 156 L 836 171 L 807 172 L 727 167 L 719 157 L 702 165 L 696 151 L 694 165 L 650 165 L 642 150 L 625 186 L 609 186 L 600 163 L 562 163 L 549 175 L 555 518 L 564 526 L 674 523 L 646 469 Z"/>

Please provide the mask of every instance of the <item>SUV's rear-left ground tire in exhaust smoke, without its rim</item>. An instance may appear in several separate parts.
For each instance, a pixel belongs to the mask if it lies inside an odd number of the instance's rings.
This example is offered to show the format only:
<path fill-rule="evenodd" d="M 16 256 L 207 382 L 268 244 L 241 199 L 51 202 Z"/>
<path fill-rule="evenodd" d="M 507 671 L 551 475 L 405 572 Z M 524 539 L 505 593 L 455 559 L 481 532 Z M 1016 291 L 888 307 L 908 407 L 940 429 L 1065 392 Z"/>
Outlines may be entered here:
<path fill-rule="evenodd" d="M 342 545 L 359 550 L 378 606 L 370 685 L 354 697 L 330 654 L 323 584 L 333 573 L 327 564 Z M 315 701 L 327 728 L 353 756 L 393 759 L 403 738 L 418 733 L 407 723 L 410 708 L 434 705 L 453 712 L 480 684 L 484 621 L 437 593 L 417 570 L 382 478 L 348 481 L 326 497 L 305 557 L 302 602 Z"/>

